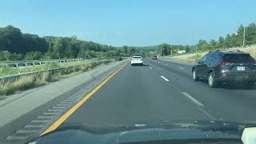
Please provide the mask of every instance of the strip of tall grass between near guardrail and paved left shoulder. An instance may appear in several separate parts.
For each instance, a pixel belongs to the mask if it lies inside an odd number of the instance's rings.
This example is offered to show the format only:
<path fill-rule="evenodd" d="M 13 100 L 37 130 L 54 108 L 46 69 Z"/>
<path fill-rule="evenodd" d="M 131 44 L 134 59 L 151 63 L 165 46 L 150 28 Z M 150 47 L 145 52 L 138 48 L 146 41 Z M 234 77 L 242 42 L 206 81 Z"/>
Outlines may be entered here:
<path fill-rule="evenodd" d="M 114 61 L 114 60 L 112 60 Z M 110 61 L 110 62 L 112 62 Z M 40 72 L 35 75 L 23 76 L 13 81 L 0 81 L 0 100 L 7 98 L 6 96 L 15 94 L 17 91 L 28 90 L 33 87 L 46 85 L 48 82 L 55 82 L 62 78 L 68 78 L 75 74 L 80 74 L 96 66 L 104 65 L 110 62 L 84 63 L 81 66 L 74 66 L 70 70 L 50 73 L 49 71 Z M 55 67 L 55 66 L 53 66 Z"/>

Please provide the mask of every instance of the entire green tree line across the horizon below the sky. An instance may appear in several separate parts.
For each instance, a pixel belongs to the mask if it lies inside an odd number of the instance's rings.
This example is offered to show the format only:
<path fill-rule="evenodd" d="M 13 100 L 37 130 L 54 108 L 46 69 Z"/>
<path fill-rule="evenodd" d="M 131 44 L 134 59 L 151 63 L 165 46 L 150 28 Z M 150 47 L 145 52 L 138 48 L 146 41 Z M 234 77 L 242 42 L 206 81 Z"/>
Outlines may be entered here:
<path fill-rule="evenodd" d="M 245 30 L 245 33 L 244 33 Z M 243 40 L 245 34 L 245 41 Z M 37 34 L 22 34 L 14 26 L 0 27 L 0 60 L 35 60 L 53 58 L 82 58 L 90 55 L 96 57 L 128 57 L 134 54 L 143 57 L 152 54 L 177 54 L 177 50 L 188 52 L 225 49 L 236 46 L 256 44 L 256 24 L 239 26 L 237 32 L 226 34 L 218 40 L 209 42 L 201 39 L 194 46 L 170 45 L 163 43 L 158 46 L 108 46 L 96 42 L 79 40 L 75 35 L 67 37 L 39 37 Z"/>

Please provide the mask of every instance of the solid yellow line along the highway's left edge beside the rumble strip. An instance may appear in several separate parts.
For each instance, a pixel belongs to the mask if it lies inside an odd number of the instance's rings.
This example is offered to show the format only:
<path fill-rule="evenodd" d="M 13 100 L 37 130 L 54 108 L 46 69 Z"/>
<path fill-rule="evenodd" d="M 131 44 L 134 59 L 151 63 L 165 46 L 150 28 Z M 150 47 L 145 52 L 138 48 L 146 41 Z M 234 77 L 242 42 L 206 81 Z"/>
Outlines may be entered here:
<path fill-rule="evenodd" d="M 127 64 L 127 63 L 126 63 Z M 75 110 L 77 110 L 80 106 L 82 106 L 82 104 L 84 102 L 86 102 L 90 97 L 92 97 L 99 89 L 102 88 L 102 86 L 104 86 L 104 84 L 106 84 L 106 82 L 108 82 L 111 78 L 114 77 L 115 74 L 118 74 L 118 72 L 120 70 L 122 70 L 122 68 L 124 68 L 126 66 L 126 64 L 124 66 L 121 66 L 118 70 L 116 70 L 113 74 L 110 74 L 109 77 L 105 78 L 102 83 L 100 83 L 98 86 L 96 86 L 94 88 L 94 90 L 91 90 L 89 94 L 87 94 L 84 98 L 82 98 L 78 103 L 76 103 L 70 110 L 68 110 L 65 114 L 62 115 L 61 118 L 58 118 L 58 120 L 56 122 L 54 122 L 54 124 L 52 124 L 50 127 L 48 127 L 45 131 L 42 132 L 42 134 L 40 134 L 40 136 L 42 136 L 43 134 L 47 134 L 55 129 L 58 128 L 58 126 L 60 126 L 64 121 L 66 121 L 66 118 L 69 118 L 71 114 L 74 113 Z"/>

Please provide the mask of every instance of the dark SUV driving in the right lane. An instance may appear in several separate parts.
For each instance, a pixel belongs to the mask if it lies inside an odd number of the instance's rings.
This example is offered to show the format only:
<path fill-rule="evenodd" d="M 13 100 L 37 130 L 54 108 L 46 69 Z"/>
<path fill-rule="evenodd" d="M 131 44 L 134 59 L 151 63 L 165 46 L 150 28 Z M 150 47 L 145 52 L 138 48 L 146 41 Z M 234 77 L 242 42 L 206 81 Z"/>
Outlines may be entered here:
<path fill-rule="evenodd" d="M 250 54 L 239 50 L 216 50 L 206 54 L 193 66 L 192 78 L 194 81 L 206 79 L 210 87 L 230 82 L 252 88 L 256 82 L 256 62 Z"/>

